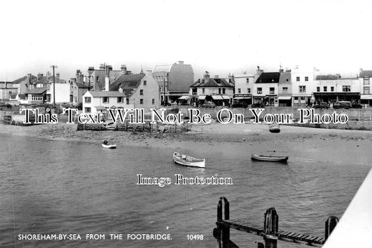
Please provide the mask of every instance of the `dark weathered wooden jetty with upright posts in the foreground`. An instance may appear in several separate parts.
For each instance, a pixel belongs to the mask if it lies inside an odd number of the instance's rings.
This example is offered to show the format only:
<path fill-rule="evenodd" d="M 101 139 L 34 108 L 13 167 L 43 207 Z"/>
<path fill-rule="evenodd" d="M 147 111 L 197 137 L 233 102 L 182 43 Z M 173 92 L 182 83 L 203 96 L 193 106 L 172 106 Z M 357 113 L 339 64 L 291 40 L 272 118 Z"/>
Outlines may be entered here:
<path fill-rule="evenodd" d="M 327 222 L 325 222 L 325 237 L 323 238 L 292 231 L 278 230 L 278 219 L 275 208 L 266 210 L 263 226 L 253 224 L 249 219 L 230 219 L 228 199 L 221 197 L 217 205 L 217 227 L 214 228 L 213 235 L 218 241 L 219 248 L 237 247 L 230 240 L 230 229 L 262 236 L 265 245 L 258 242 L 258 248 L 276 248 L 278 240 L 321 247 L 338 222 L 338 218 L 334 216 L 327 219 Z"/>

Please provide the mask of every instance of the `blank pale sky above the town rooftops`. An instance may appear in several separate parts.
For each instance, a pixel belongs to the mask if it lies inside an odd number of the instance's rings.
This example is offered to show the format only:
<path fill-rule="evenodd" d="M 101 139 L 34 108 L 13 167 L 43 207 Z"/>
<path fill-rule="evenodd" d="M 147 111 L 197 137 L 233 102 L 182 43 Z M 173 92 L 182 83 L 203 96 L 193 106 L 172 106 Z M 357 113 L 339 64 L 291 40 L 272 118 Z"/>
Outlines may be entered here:
<path fill-rule="evenodd" d="M 0 81 L 101 63 L 134 73 L 184 61 L 204 71 L 372 70 L 372 1 L 64 0 L 0 2 Z"/>

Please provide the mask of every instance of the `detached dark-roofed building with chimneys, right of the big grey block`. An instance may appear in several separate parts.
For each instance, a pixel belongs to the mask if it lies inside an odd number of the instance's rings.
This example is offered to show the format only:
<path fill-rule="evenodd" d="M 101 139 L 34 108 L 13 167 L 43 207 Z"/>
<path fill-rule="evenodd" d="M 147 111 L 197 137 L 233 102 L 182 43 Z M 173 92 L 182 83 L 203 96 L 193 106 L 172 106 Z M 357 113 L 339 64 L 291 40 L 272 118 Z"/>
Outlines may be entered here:
<path fill-rule="evenodd" d="M 214 102 L 216 105 L 228 105 L 232 102 L 235 93 L 235 85 L 231 79 L 222 79 L 218 76 L 209 77 L 205 72 L 202 79 L 198 79 L 190 86 L 190 104 L 204 104 Z"/>

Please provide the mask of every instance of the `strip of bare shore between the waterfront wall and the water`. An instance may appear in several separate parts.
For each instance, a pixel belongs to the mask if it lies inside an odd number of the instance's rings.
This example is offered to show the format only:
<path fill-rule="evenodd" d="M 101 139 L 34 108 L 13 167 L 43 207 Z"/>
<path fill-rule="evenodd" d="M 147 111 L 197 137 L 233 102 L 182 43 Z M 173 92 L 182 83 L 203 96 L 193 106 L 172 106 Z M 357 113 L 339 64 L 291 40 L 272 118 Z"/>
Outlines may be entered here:
<path fill-rule="evenodd" d="M 372 132 L 363 130 L 330 130 L 311 127 L 281 127 L 281 132 L 272 134 L 264 124 L 211 123 L 193 125 L 186 133 L 124 132 L 124 131 L 77 131 L 75 124 L 57 123 L 47 125 L 15 126 L 0 125 L 0 133 L 23 135 L 45 139 L 64 139 L 101 142 L 104 139 L 118 146 L 149 146 L 187 149 L 198 146 L 211 149 L 213 146 L 247 146 L 247 153 L 267 151 L 285 153 L 295 151 L 301 157 L 312 157 L 315 150 L 324 150 L 322 160 L 359 162 L 371 161 L 370 145 Z M 230 149 L 229 149 L 230 150 Z M 201 152 L 202 153 L 202 152 Z"/>

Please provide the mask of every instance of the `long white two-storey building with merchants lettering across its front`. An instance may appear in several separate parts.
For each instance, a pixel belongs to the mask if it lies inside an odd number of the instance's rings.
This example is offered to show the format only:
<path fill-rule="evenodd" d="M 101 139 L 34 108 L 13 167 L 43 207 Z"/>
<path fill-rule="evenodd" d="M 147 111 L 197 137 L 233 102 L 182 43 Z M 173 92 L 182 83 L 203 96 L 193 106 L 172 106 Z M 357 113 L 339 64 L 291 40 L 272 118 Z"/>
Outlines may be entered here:
<path fill-rule="evenodd" d="M 341 78 L 341 75 L 318 75 L 314 81 L 313 100 L 327 103 L 337 101 L 359 102 L 359 79 Z"/>

